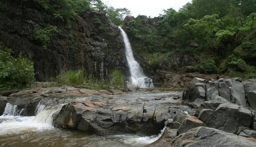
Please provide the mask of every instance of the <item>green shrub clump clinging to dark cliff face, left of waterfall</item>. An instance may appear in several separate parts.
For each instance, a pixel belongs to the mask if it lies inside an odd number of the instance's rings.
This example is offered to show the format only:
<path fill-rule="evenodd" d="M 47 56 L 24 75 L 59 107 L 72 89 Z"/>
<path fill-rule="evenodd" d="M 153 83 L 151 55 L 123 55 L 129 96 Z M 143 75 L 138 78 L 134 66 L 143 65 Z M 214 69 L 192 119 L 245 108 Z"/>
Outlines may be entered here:
<path fill-rule="evenodd" d="M 57 26 L 48 25 L 46 28 L 35 30 L 34 37 L 36 40 L 40 41 L 43 48 L 46 49 L 52 35 L 57 34 L 58 32 Z"/>

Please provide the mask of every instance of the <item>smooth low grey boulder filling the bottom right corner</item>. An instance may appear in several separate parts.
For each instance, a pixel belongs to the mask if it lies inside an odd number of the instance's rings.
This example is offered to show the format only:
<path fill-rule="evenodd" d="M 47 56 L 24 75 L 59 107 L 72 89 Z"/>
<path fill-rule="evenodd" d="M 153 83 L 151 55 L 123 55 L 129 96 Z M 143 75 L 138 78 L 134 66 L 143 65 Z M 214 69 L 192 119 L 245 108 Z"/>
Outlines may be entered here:
<path fill-rule="evenodd" d="M 196 127 L 172 140 L 173 147 L 255 147 L 254 138 L 208 127 Z"/>

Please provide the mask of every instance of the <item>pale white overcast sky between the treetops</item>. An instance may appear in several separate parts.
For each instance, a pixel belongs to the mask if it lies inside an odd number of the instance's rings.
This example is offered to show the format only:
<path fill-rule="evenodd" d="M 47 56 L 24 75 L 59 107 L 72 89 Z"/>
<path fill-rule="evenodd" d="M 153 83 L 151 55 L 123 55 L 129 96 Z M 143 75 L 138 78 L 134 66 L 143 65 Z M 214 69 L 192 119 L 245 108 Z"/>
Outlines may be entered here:
<path fill-rule="evenodd" d="M 191 0 L 102 0 L 102 2 L 114 8 L 127 8 L 134 17 L 139 14 L 156 17 L 163 13 L 163 9 L 173 8 L 178 11 Z"/>

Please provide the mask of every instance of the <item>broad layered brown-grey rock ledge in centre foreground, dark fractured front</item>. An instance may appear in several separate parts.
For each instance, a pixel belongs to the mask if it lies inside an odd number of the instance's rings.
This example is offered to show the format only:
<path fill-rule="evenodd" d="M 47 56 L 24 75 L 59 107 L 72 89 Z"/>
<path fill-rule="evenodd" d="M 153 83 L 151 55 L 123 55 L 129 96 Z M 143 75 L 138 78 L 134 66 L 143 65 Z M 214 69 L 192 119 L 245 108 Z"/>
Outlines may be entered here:
<path fill-rule="evenodd" d="M 155 100 L 148 96 L 146 101 L 121 96 L 77 98 L 62 107 L 53 120 L 54 126 L 97 135 L 148 132 L 162 128 L 168 119 L 186 115 L 183 111 L 192 112 L 188 107 L 177 106 L 181 105 L 180 100 L 171 100 L 169 96 Z"/>

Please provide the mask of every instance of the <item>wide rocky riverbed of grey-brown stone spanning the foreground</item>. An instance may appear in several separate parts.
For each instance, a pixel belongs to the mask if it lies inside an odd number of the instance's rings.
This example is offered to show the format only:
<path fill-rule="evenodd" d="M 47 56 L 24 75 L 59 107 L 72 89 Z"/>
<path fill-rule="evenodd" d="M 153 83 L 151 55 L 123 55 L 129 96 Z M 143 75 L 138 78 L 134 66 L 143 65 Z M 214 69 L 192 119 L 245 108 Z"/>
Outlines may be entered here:
<path fill-rule="evenodd" d="M 4 113 L 1 117 L 36 115 L 37 118 L 41 115 L 40 106 L 48 111 L 53 128 L 86 132 L 90 138 L 119 135 L 120 139 L 121 135 L 124 139 L 129 138 L 127 134 L 137 135 L 137 143 L 117 146 L 254 147 L 255 91 L 256 80 L 240 78 L 213 81 L 194 78 L 184 92 L 151 89 L 123 93 L 84 87 L 25 89 L 4 92 L 8 95 L 0 97 L 0 112 Z M 52 108 L 57 106 L 58 110 L 53 112 Z M 7 112 L 7 107 L 11 111 Z M 4 123 L 6 120 L 0 121 L 0 128 L 6 130 Z M 2 136 L 6 135 L 8 131 Z M 150 139 L 151 135 L 155 136 Z M 148 140 L 144 138 L 140 144 L 141 136 L 148 136 Z"/>

